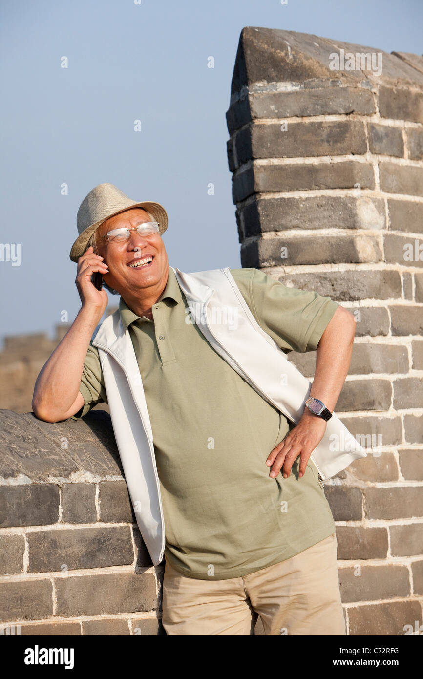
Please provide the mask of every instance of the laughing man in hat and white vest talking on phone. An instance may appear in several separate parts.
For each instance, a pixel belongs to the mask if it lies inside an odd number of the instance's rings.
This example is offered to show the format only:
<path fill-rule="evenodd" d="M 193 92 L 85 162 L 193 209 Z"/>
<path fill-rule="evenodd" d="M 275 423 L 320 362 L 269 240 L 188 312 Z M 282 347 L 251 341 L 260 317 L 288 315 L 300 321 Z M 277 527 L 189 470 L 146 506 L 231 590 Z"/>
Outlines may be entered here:
<path fill-rule="evenodd" d="M 33 411 L 57 422 L 109 403 L 140 530 L 153 564 L 166 559 L 167 634 L 253 634 L 258 614 L 265 634 L 345 634 L 335 524 L 310 455 L 337 424 L 354 317 L 257 269 L 170 267 L 164 208 L 111 184 L 90 191 L 77 224 L 81 309 L 37 378 Z M 121 295 L 103 324 L 96 272 Z M 187 303 L 201 295 L 204 324 Z M 213 307 L 215 297 L 230 304 Z M 210 308 L 223 306 L 213 326 Z M 291 350 L 317 350 L 311 390 L 284 358 Z M 272 394 L 291 412 L 298 390 L 295 424 Z"/>

